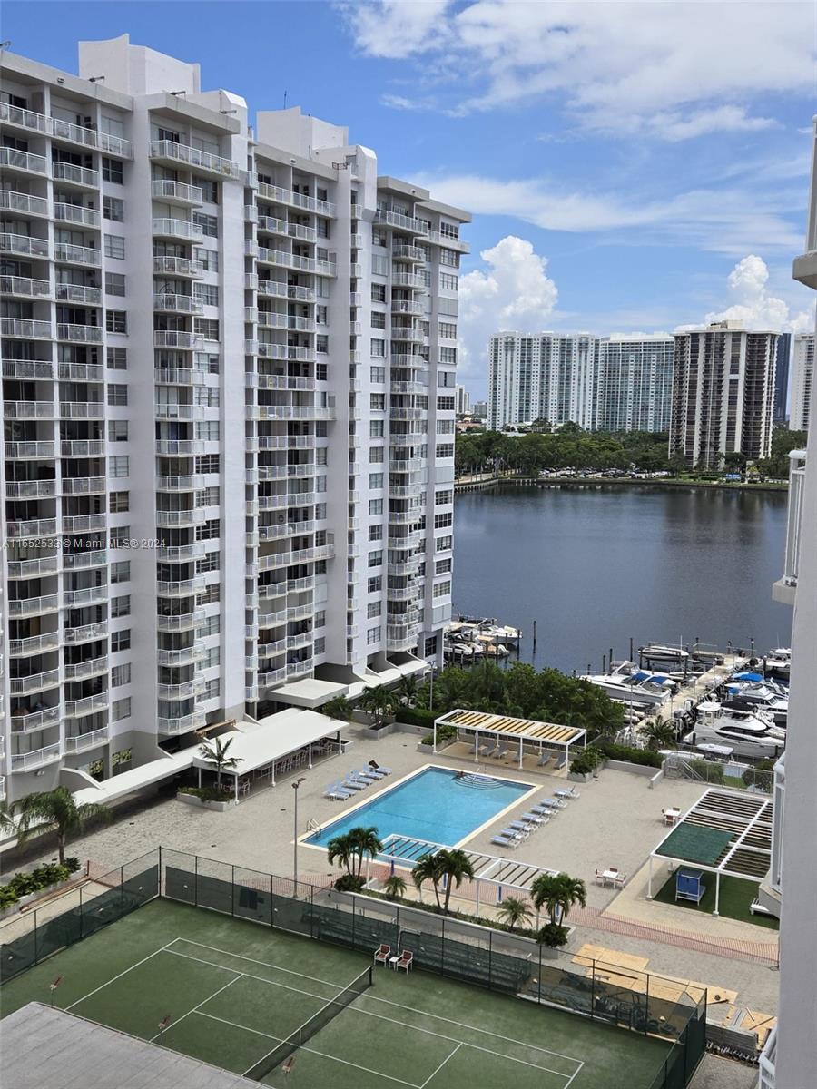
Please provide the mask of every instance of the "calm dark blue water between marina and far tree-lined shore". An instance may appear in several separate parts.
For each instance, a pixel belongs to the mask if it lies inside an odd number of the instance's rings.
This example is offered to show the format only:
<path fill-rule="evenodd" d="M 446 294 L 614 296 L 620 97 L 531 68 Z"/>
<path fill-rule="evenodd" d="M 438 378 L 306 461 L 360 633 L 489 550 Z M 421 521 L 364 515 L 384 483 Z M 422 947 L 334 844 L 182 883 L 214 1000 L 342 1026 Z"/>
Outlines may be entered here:
<path fill-rule="evenodd" d="M 458 495 L 454 612 L 525 633 L 522 658 L 601 668 L 639 644 L 788 646 L 785 493 L 513 488 Z M 532 646 L 533 621 L 537 646 Z"/>

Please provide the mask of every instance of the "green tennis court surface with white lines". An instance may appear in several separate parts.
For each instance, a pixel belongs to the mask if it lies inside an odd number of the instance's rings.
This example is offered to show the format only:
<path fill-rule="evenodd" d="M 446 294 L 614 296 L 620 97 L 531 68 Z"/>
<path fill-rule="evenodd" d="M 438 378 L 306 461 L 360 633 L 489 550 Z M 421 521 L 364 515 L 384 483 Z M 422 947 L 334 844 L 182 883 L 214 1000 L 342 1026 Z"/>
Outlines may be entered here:
<path fill-rule="evenodd" d="M 374 986 L 281 1064 L 290 1033 L 343 994 L 365 955 L 156 901 L 5 983 L 32 1000 L 261 1082 L 308 1089 L 647 1089 L 669 1045 L 428 972 Z M 49 984 L 62 980 L 51 993 Z M 270 1061 L 278 1065 L 264 1073 Z"/>

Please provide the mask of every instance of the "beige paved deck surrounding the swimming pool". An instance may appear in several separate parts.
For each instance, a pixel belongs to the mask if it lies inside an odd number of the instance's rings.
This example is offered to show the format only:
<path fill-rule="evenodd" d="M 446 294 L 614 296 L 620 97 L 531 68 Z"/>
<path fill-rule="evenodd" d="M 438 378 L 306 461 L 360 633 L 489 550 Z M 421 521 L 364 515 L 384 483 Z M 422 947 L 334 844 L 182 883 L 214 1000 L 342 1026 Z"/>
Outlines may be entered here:
<path fill-rule="evenodd" d="M 425 764 L 476 770 L 473 757 L 463 758 L 454 751 L 454 747 L 437 755 L 417 751 L 417 734 L 393 733 L 371 741 L 350 726 L 344 730 L 344 735 L 354 738 L 345 755 L 305 772 L 305 782 L 298 791 L 300 835 L 307 833 L 307 823 L 314 828 L 336 820 L 352 805 L 370 800 L 378 790 L 392 785 Z M 351 802 L 329 802 L 322 797 L 327 784 L 341 779 L 352 769 L 365 766 L 370 759 L 393 769 L 393 774 L 383 780 L 380 787 L 374 784 Z M 486 760 L 477 767 L 486 774 L 502 779 L 538 782 L 542 797 L 568 785 L 563 771 L 554 774 L 550 769 L 534 771 L 526 767 L 520 772 L 507 762 Z M 304 772 L 301 771 L 301 774 Z M 686 916 L 681 919 L 676 914 L 683 908 L 649 903 L 641 897 L 639 871 L 649 852 L 666 832 L 661 810 L 669 806 L 685 810 L 700 796 L 702 784 L 663 780 L 650 790 L 647 783 L 645 776 L 607 768 L 598 780 L 576 784 L 581 794 L 578 799 L 571 802 L 566 809 L 516 852 L 504 854 L 535 866 L 566 870 L 585 881 L 588 909 L 578 913 L 582 915 L 581 922 L 578 915 L 571 920 L 578 923 L 571 939 L 571 950 L 585 942 L 596 942 L 625 953 L 648 956 L 651 971 L 730 988 L 737 991 L 739 1003 L 776 1013 L 778 974 L 769 964 L 739 959 L 725 946 L 722 955 L 715 955 L 700 952 L 694 944 L 682 947 L 660 940 L 661 928 L 682 930 Z M 146 804 L 141 810 L 132 810 L 108 827 L 72 840 L 69 854 L 90 858 L 103 868 L 112 868 L 162 845 L 265 872 L 291 876 L 293 793 L 290 781 L 282 780 L 278 786 L 254 793 L 227 812 L 194 808 L 175 799 Z M 521 802 L 519 812 L 528 807 L 528 802 Z M 509 819 L 512 817 L 508 813 L 500 816 L 488 828 L 475 833 L 465 843 L 467 849 L 503 854 L 501 848 L 491 847 L 490 839 Z M 53 841 L 49 840 L 48 849 L 42 851 L 36 860 L 48 860 L 54 854 Z M 632 885 L 629 882 L 623 892 L 617 892 L 596 884 L 594 870 L 609 866 L 617 867 L 631 879 L 635 876 Z M 298 876 L 302 879 L 319 880 L 322 884 L 331 874 L 332 868 L 327 862 L 325 851 L 315 847 L 298 851 Z M 619 932 L 610 932 L 606 922 L 609 915 L 630 917 L 634 923 L 653 926 L 658 937 L 655 941 L 643 935 L 629 937 L 620 932 L 622 928 L 618 928 Z M 727 935 L 740 935 L 746 942 L 765 943 L 767 947 L 777 942 L 773 931 L 731 919 L 712 919 L 702 913 L 688 913 L 688 933 L 692 939 L 702 933 L 708 935 L 712 946 Z"/>

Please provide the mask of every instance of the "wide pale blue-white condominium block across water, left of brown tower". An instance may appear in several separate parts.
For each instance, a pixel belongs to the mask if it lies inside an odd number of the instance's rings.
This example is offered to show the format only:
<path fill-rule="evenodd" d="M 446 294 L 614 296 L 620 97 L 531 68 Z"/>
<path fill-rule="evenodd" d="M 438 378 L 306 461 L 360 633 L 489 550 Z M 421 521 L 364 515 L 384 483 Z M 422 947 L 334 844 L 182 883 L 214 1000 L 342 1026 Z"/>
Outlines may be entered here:
<path fill-rule="evenodd" d="M 488 347 L 488 426 L 547 419 L 586 430 L 667 430 L 672 356 L 666 337 L 498 333 Z"/>

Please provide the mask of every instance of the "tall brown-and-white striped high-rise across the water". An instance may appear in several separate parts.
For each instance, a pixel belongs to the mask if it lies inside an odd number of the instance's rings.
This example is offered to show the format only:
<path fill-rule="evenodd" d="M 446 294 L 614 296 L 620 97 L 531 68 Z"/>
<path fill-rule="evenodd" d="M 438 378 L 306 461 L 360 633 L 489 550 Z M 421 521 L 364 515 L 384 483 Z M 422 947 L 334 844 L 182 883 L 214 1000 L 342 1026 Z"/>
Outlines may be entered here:
<path fill-rule="evenodd" d="M 732 321 L 675 337 L 671 456 L 718 468 L 727 454 L 770 455 L 777 339 Z"/>

